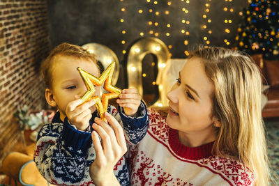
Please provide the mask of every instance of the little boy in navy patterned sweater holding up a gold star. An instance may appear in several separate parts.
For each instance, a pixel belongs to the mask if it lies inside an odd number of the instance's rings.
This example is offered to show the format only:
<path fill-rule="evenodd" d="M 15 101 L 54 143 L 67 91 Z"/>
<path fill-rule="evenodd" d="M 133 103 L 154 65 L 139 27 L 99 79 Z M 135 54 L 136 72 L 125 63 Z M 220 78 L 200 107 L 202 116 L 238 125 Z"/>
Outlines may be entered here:
<path fill-rule="evenodd" d="M 77 67 L 99 77 L 100 70 L 92 54 L 80 46 L 63 43 L 43 61 L 41 70 L 45 79 L 45 98 L 58 108 L 52 123 L 44 125 L 38 134 L 34 161 L 40 173 L 54 185 L 93 185 L 89 166 L 96 158 L 91 132 L 98 117 L 95 101 L 82 103 L 86 86 Z M 96 87 L 96 95 L 100 87 Z M 107 112 L 124 125 L 126 140 L 137 144 L 149 123 L 146 105 L 135 88 L 124 89 L 119 96 L 119 111 L 108 106 Z M 114 175 L 121 185 L 130 185 L 128 166 L 123 156 Z"/>

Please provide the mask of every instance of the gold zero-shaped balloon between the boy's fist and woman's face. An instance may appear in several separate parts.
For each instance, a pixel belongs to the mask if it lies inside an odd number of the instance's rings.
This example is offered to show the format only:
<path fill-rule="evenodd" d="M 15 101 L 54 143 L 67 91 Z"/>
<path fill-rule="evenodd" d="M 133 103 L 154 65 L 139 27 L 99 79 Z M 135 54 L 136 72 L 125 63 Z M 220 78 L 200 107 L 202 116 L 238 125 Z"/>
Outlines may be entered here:
<path fill-rule="evenodd" d="M 157 57 L 158 75 L 162 73 L 167 60 L 170 58 L 169 49 L 167 49 L 165 43 L 158 38 L 141 38 L 130 47 L 127 60 L 128 86 L 137 88 L 140 95 L 143 95 L 142 60 L 147 54 L 153 54 Z M 159 85 L 159 98 L 151 107 L 160 107 L 162 105 L 160 88 Z"/>

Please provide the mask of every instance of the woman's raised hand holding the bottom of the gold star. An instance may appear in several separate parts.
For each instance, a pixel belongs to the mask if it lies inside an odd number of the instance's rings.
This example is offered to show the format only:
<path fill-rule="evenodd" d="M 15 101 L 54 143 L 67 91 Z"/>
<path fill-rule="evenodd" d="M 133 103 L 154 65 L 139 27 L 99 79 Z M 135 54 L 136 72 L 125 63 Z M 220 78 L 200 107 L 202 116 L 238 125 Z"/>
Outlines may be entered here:
<path fill-rule="evenodd" d="M 96 185 L 120 185 L 114 176 L 114 165 L 126 153 L 126 141 L 123 129 L 116 119 L 107 112 L 105 118 L 110 125 L 100 118 L 95 118 L 98 125 L 96 123 L 92 125 L 95 130 L 91 137 L 96 151 L 96 159 L 91 164 L 89 173 Z"/>

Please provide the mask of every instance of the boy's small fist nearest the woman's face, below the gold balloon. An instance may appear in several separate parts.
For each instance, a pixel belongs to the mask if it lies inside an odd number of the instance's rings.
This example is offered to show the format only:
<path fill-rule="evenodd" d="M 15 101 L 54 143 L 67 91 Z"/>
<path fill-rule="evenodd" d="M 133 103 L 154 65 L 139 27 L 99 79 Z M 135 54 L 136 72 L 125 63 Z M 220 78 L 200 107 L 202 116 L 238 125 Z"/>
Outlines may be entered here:
<path fill-rule="evenodd" d="M 135 88 L 123 89 L 116 102 L 123 107 L 127 116 L 134 116 L 140 107 L 142 96 Z"/>

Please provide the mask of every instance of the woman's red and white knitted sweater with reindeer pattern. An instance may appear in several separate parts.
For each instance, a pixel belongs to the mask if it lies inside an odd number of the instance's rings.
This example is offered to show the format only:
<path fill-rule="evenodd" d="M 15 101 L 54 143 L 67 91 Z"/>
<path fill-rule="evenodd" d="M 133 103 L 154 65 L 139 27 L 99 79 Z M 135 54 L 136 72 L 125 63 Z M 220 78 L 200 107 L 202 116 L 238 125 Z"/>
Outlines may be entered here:
<path fill-rule="evenodd" d="M 239 160 L 211 155 L 213 142 L 187 147 L 166 117 L 149 109 L 146 136 L 129 149 L 131 185 L 254 185 L 255 175 Z"/>

